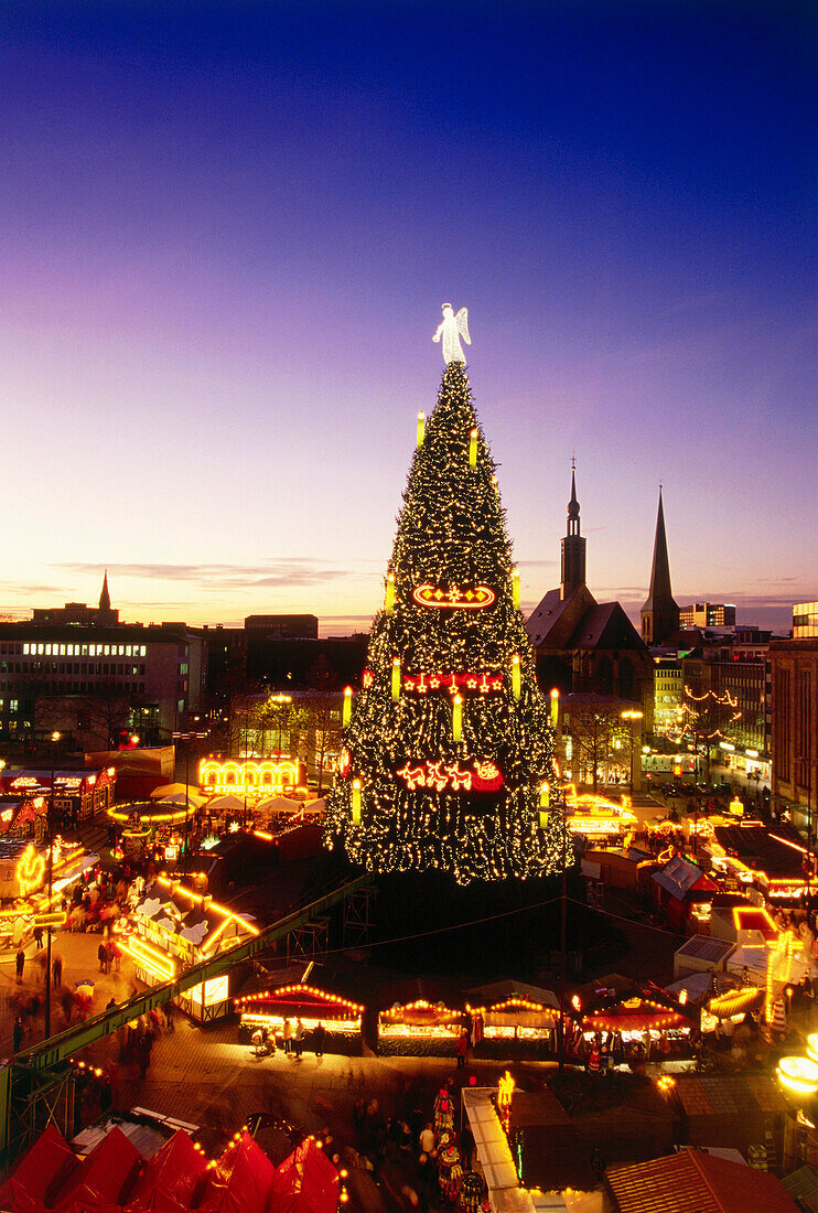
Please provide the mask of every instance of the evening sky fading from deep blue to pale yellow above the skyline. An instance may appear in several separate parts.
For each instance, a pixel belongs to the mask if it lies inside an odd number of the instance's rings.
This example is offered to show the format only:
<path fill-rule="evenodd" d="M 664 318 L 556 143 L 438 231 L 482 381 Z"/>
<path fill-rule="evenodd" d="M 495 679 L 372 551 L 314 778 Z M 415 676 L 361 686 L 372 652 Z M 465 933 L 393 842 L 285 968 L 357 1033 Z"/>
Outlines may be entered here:
<path fill-rule="evenodd" d="M 818 597 L 816 6 L 0 7 L 0 608 L 382 597 L 440 304 L 521 566 Z"/>

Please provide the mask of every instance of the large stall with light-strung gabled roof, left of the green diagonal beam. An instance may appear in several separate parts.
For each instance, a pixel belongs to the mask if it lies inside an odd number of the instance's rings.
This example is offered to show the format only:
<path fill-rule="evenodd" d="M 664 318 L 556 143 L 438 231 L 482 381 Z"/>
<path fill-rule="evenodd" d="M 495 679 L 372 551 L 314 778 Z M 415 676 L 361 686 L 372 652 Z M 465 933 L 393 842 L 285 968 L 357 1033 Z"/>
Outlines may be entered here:
<path fill-rule="evenodd" d="M 160 876 L 147 885 L 132 911 L 121 947 L 148 986 L 172 981 L 185 969 L 218 952 L 244 944 L 258 929 L 246 918 L 219 905 L 208 894 L 194 893 Z M 181 1010 L 196 1023 L 230 1010 L 230 974 L 193 986 L 178 1000 Z"/>

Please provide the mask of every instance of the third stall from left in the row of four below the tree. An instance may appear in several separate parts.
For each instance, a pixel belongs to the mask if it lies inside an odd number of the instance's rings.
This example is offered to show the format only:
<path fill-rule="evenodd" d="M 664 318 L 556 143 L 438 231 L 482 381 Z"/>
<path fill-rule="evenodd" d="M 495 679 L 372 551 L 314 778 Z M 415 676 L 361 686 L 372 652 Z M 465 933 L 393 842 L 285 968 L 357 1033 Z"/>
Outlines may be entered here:
<path fill-rule="evenodd" d="M 496 981 L 467 991 L 475 1052 L 486 1058 L 544 1058 L 554 1052 L 560 1004 L 550 990 Z"/>

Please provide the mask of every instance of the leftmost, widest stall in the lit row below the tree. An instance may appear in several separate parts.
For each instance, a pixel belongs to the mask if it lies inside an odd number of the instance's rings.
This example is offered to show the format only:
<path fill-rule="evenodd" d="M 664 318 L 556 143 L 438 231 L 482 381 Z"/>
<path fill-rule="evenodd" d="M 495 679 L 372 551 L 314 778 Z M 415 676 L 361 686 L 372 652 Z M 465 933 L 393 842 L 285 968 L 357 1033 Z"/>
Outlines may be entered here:
<path fill-rule="evenodd" d="M 342 997 L 336 990 L 319 989 L 302 981 L 273 985 L 236 998 L 234 1007 L 241 1014 L 239 1041 L 250 1043 L 257 1027 L 267 1027 L 281 1047 L 284 1021 L 292 1025 L 301 1019 L 307 1038 L 305 1049 L 315 1048 L 315 1030 L 325 1030 L 324 1053 L 359 1055 L 361 1053 L 361 1003 Z"/>

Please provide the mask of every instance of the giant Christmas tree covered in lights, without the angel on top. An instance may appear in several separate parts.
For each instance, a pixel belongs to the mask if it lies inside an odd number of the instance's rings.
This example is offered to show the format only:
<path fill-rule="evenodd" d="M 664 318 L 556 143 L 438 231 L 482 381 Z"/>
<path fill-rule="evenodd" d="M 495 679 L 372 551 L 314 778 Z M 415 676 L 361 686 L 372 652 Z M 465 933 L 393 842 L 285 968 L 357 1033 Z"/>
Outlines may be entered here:
<path fill-rule="evenodd" d="M 545 811 L 553 750 L 494 463 L 464 364 L 450 361 L 428 425 L 418 417 L 326 844 L 373 872 L 542 876 L 561 845 Z"/>

